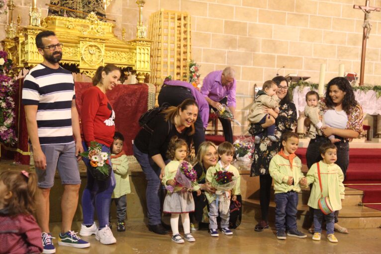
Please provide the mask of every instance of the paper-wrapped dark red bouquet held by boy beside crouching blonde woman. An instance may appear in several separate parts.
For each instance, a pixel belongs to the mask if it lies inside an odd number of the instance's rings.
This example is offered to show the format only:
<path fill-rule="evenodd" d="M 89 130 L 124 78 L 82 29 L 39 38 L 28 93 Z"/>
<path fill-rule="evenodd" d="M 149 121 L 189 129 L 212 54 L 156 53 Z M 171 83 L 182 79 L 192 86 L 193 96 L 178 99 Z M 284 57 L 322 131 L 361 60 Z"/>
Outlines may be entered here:
<path fill-rule="evenodd" d="M 217 171 L 212 178 L 212 186 L 216 188 L 216 206 L 220 212 L 227 213 L 230 207 L 230 190 L 237 182 L 234 173 L 230 171 Z"/>

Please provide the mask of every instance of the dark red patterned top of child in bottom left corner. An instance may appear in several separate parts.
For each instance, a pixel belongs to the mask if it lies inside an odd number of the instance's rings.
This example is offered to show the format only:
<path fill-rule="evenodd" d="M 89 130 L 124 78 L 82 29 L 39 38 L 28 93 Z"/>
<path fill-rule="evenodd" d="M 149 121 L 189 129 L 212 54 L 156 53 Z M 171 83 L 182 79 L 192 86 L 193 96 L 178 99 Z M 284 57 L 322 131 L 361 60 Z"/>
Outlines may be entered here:
<path fill-rule="evenodd" d="M 41 229 L 32 215 L 0 214 L 0 253 L 41 253 Z"/>

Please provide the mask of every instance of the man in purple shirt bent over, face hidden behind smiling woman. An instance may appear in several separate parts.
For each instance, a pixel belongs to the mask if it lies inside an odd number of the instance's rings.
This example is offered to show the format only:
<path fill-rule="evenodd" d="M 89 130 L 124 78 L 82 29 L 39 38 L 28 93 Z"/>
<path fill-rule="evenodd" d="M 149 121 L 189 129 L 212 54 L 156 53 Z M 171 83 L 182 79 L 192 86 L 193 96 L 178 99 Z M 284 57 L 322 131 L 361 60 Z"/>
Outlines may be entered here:
<path fill-rule="evenodd" d="M 197 153 L 198 146 L 205 141 L 205 129 L 208 126 L 209 105 L 205 97 L 188 82 L 165 80 L 158 96 L 159 106 L 164 102 L 171 106 L 180 105 L 186 99 L 194 99 L 198 105 L 198 116 L 194 122 L 193 143 Z"/>

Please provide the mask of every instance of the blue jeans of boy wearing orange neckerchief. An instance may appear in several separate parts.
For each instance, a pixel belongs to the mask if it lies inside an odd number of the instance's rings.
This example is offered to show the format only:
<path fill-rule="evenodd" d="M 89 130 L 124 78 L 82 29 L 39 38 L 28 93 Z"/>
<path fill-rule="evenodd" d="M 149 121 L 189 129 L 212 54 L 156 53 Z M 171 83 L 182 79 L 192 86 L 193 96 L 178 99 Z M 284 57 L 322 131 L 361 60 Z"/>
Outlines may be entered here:
<path fill-rule="evenodd" d="M 277 231 L 296 230 L 298 194 L 288 191 L 275 194 L 275 227 Z"/>

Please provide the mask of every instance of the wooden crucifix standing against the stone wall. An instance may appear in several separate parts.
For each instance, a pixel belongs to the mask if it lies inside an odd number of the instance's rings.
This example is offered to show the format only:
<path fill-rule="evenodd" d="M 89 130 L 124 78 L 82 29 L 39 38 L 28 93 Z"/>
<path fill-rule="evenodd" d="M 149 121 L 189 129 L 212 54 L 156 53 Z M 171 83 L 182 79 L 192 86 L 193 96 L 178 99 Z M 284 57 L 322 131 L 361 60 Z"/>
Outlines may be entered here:
<path fill-rule="evenodd" d="M 364 12 L 364 32 L 363 32 L 363 49 L 361 52 L 361 68 L 360 68 L 360 84 L 364 85 L 364 70 L 365 70 L 365 51 L 367 49 L 367 39 L 369 38 L 369 33 L 372 29 L 371 24 L 371 12 L 380 11 L 380 7 L 371 7 L 369 6 L 369 0 L 366 0 L 365 6 L 362 5 L 353 5 L 355 9 L 361 9 Z"/>

